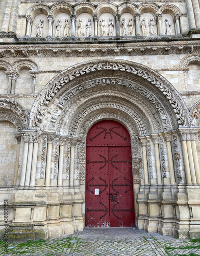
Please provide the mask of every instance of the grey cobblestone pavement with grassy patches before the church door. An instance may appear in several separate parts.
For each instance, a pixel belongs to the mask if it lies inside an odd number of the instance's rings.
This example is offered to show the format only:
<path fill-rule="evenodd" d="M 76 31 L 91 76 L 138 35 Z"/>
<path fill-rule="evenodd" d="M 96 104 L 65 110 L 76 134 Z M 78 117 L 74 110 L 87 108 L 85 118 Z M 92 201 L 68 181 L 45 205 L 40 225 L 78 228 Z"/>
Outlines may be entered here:
<path fill-rule="evenodd" d="M 200 255 L 197 242 L 133 228 L 86 228 L 60 239 L 9 244 L 6 254 L 4 246 L 1 242 L 0 255 Z"/>

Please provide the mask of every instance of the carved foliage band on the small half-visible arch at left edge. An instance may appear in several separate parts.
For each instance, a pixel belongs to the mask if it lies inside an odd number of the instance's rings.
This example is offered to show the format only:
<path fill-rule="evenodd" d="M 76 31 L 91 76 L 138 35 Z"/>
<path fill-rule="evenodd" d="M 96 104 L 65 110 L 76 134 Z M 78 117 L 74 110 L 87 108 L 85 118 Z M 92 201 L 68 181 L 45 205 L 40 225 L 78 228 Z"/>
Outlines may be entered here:
<path fill-rule="evenodd" d="M 29 113 L 26 109 L 23 108 L 22 105 L 20 105 L 15 100 L 0 98 L 0 110 L 12 112 L 16 116 L 18 116 L 21 123 L 20 129 L 29 128 Z"/>

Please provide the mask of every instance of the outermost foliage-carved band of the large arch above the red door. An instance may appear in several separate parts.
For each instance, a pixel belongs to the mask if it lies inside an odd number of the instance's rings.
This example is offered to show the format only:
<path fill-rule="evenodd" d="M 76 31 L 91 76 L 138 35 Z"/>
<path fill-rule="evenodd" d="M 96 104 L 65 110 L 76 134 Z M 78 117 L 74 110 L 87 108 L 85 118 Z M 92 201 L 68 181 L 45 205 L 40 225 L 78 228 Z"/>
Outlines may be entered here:
<path fill-rule="evenodd" d="M 101 61 L 101 60 L 100 60 Z M 47 84 L 47 86 L 42 90 L 42 92 L 38 95 L 38 98 L 36 99 L 36 105 L 34 106 L 32 110 L 32 125 L 33 126 L 40 126 L 42 123 L 42 116 L 45 113 L 45 110 L 49 107 L 49 104 L 53 101 L 54 97 L 58 92 L 64 88 L 70 81 L 76 79 L 77 77 L 88 75 L 89 73 L 93 72 L 127 72 L 129 74 L 133 74 L 135 76 L 141 77 L 144 80 L 148 81 L 149 83 L 153 84 L 167 99 L 174 115 L 176 116 L 177 123 L 179 126 L 186 126 L 186 116 L 184 113 L 184 110 L 182 108 L 182 105 L 180 104 L 177 95 L 175 95 L 171 90 L 170 87 L 172 87 L 169 82 L 165 80 L 165 84 L 163 83 L 163 79 L 160 75 L 158 75 L 159 78 L 155 77 L 154 71 L 143 67 L 141 65 L 137 65 L 135 63 L 132 63 L 132 65 L 128 65 L 125 61 L 116 62 L 115 60 L 108 61 L 108 62 L 97 62 L 97 61 L 91 61 L 92 63 L 89 63 L 88 65 L 80 68 L 73 67 L 73 71 L 71 71 L 72 68 L 69 68 L 67 71 L 61 72 L 57 77 L 62 75 L 61 78 L 56 77 L 53 78 L 51 82 Z M 95 63 L 96 62 L 96 63 Z M 79 66 L 79 65 L 78 65 Z M 181 101 L 183 103 L 183 101 Z M 184 108 L 185 111 L 187 111 L 186 107 Z M 33 113 L 35 112 L 35 113 Z"/>

